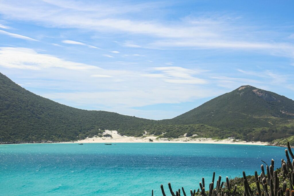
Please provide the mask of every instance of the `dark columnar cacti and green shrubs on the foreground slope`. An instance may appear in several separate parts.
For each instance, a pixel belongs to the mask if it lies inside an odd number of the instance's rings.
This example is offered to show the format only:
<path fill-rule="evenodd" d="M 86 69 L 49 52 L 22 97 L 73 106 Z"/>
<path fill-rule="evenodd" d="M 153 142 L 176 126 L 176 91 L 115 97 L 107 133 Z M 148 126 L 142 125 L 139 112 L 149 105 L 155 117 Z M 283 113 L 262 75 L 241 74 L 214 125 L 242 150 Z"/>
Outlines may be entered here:
<path fill-rule="evenodd" d="M 290 158 L 290 156 L 291 158 Z M 226 177 L 225 182 L 222 182 L 222 177 L 219 176 L 215 182 L 215 173 L 213 173 L 212 181 L 199 182 L 199 189 L 190 190 L 186 193 L 184 188 L 174 190 L 171 184 L 168 183 L 168 191 L 164 190 L 161 185 L 162 195 L 166 196 L 166 192 L 170 192 L 172 196 L 293 196 L 294 195 L 294 155 L 288 143 L 288 150 L 285 150 L 286 160 L 281 160 L 281 167 L 275 168 L 275 162 L 272 159 L 270 165 L 261 165 L 261 172 L 255 171 L 253 176 L 246 176 L 243 172 L 243 177 L 229 180 Z M 276 166 L 277 167 L 277 166 Z M 278 166 L 279 167 L 279 166 Z M 169 194 L 168 194 L 169 195 Z M 153 196 L 153 190 L 152 190 Z"/>

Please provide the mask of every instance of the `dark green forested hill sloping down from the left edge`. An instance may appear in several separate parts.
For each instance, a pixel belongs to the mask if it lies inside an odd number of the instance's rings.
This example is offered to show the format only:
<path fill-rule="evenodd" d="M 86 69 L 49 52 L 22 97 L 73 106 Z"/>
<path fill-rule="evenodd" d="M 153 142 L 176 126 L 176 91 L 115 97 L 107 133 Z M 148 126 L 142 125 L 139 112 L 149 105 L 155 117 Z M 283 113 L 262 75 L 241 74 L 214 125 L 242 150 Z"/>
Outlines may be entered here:
<path fill-rule="evenodd" d="M 140 135 L 152 120 L 72 108 L 37 96 L 0 73 L 0 141 L 69 141 L 100 130 Z"/>

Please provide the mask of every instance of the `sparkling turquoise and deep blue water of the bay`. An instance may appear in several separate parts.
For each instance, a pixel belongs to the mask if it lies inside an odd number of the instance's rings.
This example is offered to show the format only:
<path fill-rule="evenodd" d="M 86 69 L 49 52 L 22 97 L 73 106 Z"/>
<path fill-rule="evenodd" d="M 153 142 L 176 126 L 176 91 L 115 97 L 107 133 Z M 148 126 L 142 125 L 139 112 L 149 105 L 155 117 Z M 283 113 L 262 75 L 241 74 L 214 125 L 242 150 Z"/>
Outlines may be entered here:
<path fill-rule="evenodd" d="M 285 148 L 255 145 L 116 143 L 0 145 L 0 195 L 162 195 L 216 176 L 280 167 Z"/>

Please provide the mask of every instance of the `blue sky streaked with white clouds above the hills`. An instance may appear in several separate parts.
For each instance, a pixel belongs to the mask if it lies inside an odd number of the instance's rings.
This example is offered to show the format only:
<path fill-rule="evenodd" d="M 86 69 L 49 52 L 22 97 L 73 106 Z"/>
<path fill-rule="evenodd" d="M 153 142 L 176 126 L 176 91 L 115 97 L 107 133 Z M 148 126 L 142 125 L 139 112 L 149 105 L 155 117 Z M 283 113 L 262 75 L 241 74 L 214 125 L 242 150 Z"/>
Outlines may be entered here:
<path fill-rule="evenodd" d="M 0 0 L 0 72 L 65 105 L 149 119 L 242 85 L 294 99 L 293 7 Z"/>

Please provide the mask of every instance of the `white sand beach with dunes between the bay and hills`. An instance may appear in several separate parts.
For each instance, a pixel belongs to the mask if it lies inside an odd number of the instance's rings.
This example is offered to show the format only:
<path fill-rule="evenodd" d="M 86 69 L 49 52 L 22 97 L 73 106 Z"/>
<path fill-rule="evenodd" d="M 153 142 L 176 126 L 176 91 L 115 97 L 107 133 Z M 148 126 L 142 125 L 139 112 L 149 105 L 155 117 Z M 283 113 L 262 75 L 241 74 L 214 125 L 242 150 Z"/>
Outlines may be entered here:
<path fill-rule="evenodd" d="M 247 144 L 247 145 L 268 145 L 266 142 L 246 142 L 237 139 L 224 139 L 224 140 L 213 140 L 212 138 L 192 138 L 183 137 L 181 138 L 158 138 L 154 135 L 144 134 L 142 137 L 130 137 L 121 135 L 115 130 L 105 130 L 102 135 L 111 135 L 111 137 L 98 137 L 86 138 L 84 140 L 78 140 L 71 143 L 207 143 L 207 144 Z M 70 142 L 65 142 L 70 143 Z"/>

